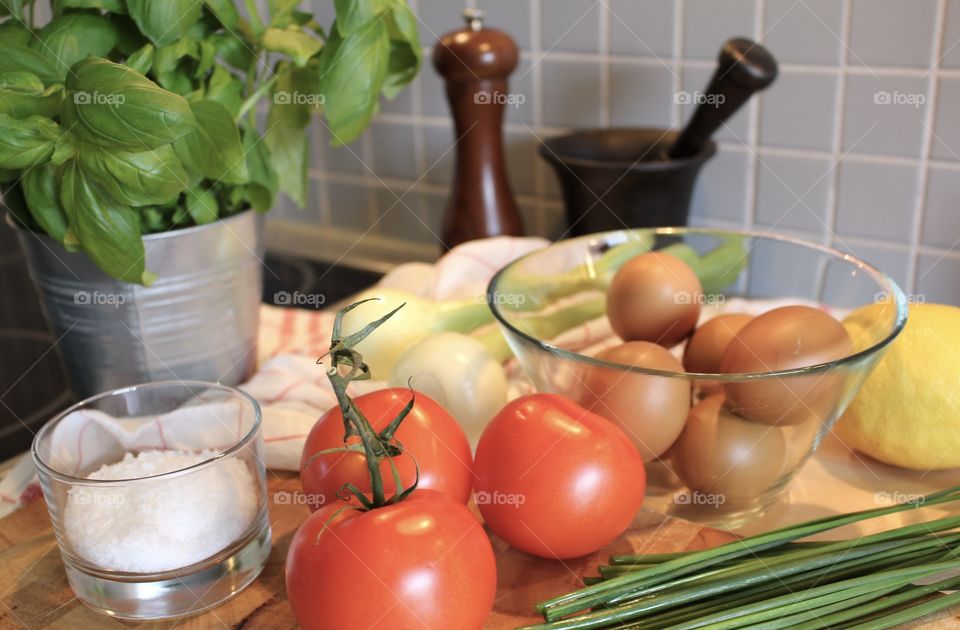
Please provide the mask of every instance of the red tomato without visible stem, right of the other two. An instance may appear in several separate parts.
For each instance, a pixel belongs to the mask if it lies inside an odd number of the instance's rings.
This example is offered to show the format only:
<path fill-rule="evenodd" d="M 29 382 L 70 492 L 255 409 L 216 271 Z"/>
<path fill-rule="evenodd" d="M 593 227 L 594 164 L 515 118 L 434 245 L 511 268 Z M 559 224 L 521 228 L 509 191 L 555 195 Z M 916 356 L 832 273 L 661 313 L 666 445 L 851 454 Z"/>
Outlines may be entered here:
<path fill-rule="evenodd" d="M 487 526 L 544 558 L 603 548 L 629 527 L 646 490 L 643 460 L 623 431 L 555 394 L 501 409 L 480 438 L 474 471 Z"/>

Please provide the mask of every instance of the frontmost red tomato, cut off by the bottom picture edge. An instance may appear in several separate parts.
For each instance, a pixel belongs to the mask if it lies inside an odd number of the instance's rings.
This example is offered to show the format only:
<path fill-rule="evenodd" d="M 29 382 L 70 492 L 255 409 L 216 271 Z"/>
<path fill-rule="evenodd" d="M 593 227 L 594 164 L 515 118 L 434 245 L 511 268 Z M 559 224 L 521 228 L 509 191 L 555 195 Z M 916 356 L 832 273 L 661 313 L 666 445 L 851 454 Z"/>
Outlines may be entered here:
<path fill-rule="evenodd" d="M 483 627 L 497 571 L 465 505 L 433 490 L 369 512 L 338 503 L 311 514 L 290 543 L 287 593 L 301 627 Z"/>

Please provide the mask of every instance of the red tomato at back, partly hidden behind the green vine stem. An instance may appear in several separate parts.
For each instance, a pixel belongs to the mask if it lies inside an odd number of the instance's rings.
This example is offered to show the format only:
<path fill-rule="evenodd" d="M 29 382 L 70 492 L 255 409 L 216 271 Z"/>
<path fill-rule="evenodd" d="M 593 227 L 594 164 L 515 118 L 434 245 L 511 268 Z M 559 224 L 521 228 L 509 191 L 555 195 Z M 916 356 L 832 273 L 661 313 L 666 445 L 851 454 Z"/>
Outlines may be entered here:
<path fill-rule="evenodd" d="M 373 429 L 382 431 L 410 402 L 410 390 L 400 387 L 382 389 L 358 396 L 353 402 Z M 407 451 L 407 454 L 393 458 L 404 488 L 410 487 L 416 479 L 412 456 L 420 467 L 417 491 L 439 490 L 461 503 L 470 499 L 473 487 L 470 443 L 453 416 L 436 401 L 416 392 L 413 409 L 397 430 L 396 438 Z M 348 441 L 348 444 L 359 443 L 360 438 L 356 436 Z M 370 472 L 363 453 L 330 453 L 307 464 L 314 453 L 340 446 L 343 446 L 343 414 L 339 407 L 334 407 L 313 425 L 300 459 L 300 483 L 312 510 L 335 502 L 337 493 L 347 482 L 364 493 L 370 492 Z M 380 472 L 384 490 L 390 496 L 396 486 L 387 459 L 380 463 Z"/>

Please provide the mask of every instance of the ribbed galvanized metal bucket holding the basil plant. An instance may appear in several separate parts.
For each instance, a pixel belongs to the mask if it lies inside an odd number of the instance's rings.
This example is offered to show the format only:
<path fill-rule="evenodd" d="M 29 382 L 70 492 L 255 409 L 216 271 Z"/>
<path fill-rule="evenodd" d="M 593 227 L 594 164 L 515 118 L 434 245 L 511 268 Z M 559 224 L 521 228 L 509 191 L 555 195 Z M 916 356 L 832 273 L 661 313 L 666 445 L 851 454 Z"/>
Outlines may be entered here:
<path fill-rule="evenodd" d="M 262 215 L 145 236 L 147 269 L 158 275 L 150 287 L 115 280 L 46 235 L 18 236 L 78 397 L 169 379 L 235 385 L 252 375 Z"/>

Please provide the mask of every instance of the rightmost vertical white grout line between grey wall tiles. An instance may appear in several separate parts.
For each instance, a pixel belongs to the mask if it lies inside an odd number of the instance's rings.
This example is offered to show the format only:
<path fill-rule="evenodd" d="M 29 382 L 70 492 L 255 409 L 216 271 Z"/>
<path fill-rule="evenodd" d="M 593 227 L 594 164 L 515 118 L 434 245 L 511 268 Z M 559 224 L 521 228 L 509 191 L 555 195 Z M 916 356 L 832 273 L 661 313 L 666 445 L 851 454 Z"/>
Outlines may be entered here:
<path fill-rule="evenodd" d="M 927 79 L 927 109 L 924 112 L 924 134 L 920 147 L 920 165 L 917 169 L 917 204 L 913 208 L 913 221 L 910 226 L 910 257 L 907 259 L 907 289 L 915 293 L 920 284 L 920 239 L 923 232 L 924 211 L 927 205 L 927 185 L 930 179 L 930 155 L 933 152 L 933 126 L 936 124 L 937 96 L 940 78 L 936 70 L 940 67 L 940 49 L 947 24 L 947 0 L 937 0 L 937 20 L 930 48 L 930 76 Z"/>

